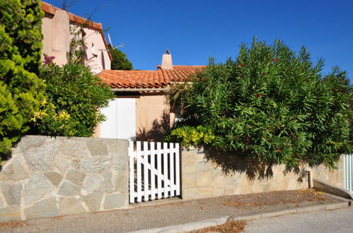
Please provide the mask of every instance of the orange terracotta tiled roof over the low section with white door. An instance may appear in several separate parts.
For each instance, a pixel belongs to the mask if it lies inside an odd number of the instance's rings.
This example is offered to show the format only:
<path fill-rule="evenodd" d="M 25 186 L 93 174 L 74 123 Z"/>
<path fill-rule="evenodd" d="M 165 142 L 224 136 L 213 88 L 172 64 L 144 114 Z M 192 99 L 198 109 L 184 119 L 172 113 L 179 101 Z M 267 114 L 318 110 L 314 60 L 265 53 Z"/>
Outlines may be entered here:
<path fill-rule="evenodd" d="M 156 71 L 104 70 L 98 74 L 111 88 L 163 88 L 180 82 L 206 66 L 173 66 L 172 70 L 158 66 Z"/>

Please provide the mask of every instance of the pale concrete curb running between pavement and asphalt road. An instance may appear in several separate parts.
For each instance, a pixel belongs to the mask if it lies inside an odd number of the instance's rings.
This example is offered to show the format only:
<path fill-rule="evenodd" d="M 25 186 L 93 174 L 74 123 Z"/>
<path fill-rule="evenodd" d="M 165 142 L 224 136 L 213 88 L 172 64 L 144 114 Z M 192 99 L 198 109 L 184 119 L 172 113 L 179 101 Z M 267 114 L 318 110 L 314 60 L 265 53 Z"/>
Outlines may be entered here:
<path fill-rule="evenodd" d="M 265 217 L 276 217 L 281 215 L 291 215 L 296 213 L 306 213 L 311 211 L 317 210 L 335 210 L 340 208 L 347 208 L 349 207 L 349 201 L 341 202 L 341 203 L 331 203 L 331 204 L 323 204 L 323 205 L 311 205 L 306 207 L 299 207 L 299 208 L 292 208 L 288 210 L 278 210 L 278 211 L 271 211 L 265 213 L 257 213 L 254 215 L 244 215 L 244 216 L 226 216 L 226 217 L 219 217 L 214 218 L 211 220 L 203 220 L 198 222 L 190 222 L 182 225 L 172 225 L 168 227 L 157 227 L 151 229 L 141 229 L 136 232 L 129 232 L 129 233 L 177 233 L 177 232 L 190 232 L 195 231 L 197 229 L 202 229 L 204 227 L 212 227 L 215 225 L 221 225 L 229 221 L 234 220 L 257 220 L 259 218 Z"/>

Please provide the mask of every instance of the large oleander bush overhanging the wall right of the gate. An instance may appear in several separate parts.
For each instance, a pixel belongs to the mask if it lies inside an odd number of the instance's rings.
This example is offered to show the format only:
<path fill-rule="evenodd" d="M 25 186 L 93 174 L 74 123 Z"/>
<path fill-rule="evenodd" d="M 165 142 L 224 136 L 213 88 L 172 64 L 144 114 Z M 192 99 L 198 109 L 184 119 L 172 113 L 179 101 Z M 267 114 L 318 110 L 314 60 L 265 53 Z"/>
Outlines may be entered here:
<path fill-rule="evenodd" d="M 352 85 L 345 71 L 323 75 L 323 66 L 305 47 L 294 52 L 280 40 L 241 44 L 236 59 L 211 60 L 174 86 L 170 100 L 183 114 L 168 139 L 287 171 L 335 168 L 340 155 L 352 153 Z M 200 137 L 200 127 L 212 137 Z"/>

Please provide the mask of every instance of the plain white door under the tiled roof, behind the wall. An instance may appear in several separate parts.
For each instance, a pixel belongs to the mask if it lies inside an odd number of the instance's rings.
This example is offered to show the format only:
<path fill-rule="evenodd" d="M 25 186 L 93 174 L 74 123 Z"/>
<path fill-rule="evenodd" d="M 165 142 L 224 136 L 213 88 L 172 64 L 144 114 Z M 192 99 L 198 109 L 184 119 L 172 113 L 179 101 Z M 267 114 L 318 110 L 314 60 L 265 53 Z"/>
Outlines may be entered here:
<path fill-rule="evenodd" d="M 106 120 L 100 124 L 100 138 L 136 137 L 136 101 L 134 98 L 116 98 L 100 112 Z"/>

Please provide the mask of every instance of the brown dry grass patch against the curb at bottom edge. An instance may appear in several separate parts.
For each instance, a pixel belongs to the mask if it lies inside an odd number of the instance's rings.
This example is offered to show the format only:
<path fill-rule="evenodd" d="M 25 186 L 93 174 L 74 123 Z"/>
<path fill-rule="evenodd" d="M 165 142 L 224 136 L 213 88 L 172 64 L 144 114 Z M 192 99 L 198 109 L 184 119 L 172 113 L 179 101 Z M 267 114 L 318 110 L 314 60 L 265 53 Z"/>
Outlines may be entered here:
<path fill-rule="evenodd" d="M 245 226 L 247 224 L 248 224 L 247 221 L 235 220 L 235 221 L 226 222 L 222 225 L 217 225 L 214 227 L 206 227 L 203 229 L 198 229 L 193 233 L 204 233 L 204 232 L 240 233 L 244 231 Z"/>

